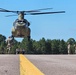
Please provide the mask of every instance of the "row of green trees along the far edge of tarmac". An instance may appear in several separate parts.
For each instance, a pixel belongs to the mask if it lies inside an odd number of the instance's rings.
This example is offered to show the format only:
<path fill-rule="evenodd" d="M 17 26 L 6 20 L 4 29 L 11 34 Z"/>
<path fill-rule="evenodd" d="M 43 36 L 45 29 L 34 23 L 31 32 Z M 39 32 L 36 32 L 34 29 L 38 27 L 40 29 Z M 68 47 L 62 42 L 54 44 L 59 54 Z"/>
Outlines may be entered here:
<path fill-rule="evenodd" d="M 14 40 L 10 53 L 15 54 L 16 49 L 21 48 L 26 54 L 68 54 L 68 44 L 70 44 L 70 54 L 75 54 L 76 41 L 74 38 L 69 38 L 67 41 L 45 38 L 39 41 L 33 39 L 28 41 L 27 38 L 24 38 L 21 42 Z M 6 37 L 0 34 L 0 54 L 6 54 L 7 51 Z"/>

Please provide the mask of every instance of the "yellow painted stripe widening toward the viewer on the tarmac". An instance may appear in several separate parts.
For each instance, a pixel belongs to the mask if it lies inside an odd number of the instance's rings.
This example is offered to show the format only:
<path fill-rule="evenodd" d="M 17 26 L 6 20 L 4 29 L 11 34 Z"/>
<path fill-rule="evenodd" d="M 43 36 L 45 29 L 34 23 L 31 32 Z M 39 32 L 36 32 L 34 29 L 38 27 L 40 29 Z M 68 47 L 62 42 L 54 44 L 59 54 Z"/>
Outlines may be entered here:
<path fill-rule="evenodd" d="M 25 56 L 20 55 L 20 75 L 44 75 Z"/>

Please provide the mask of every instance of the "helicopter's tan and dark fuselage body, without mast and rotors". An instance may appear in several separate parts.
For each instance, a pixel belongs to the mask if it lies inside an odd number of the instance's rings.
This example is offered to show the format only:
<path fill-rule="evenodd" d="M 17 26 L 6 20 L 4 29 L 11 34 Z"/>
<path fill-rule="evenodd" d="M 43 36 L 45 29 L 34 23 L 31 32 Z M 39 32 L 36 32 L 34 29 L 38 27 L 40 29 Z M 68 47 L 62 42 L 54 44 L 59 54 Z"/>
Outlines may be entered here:
<path fill-rule="evenodd" d="M 30 28 L 29 22 L 26 19 L 15 20 L 12 28 L 13 37 L 29 37 L 30 36 Z"/>

